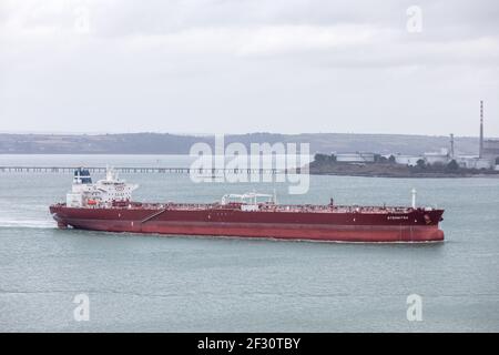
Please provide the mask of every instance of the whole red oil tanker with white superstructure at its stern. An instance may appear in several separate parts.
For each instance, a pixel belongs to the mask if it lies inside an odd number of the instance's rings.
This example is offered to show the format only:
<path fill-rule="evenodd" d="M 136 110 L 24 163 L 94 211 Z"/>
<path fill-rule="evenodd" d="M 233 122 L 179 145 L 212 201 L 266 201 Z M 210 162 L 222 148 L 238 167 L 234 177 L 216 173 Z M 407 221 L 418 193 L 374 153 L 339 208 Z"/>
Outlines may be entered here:
<path fill-rule="evenodd" d="M 238 236 L 334 242 L 437 242 L 444 210 L 413 206 L 281 205 L 275 196 L 225 195 L 221 202 L 140 203 L 138 186 L 112 170 L 92 183 L 88 170 L 74 172 L 65 203 L 50 206 L 58 226 L 106 232 Z M 261 202 L 261 199 L 267 199 Z"/>

